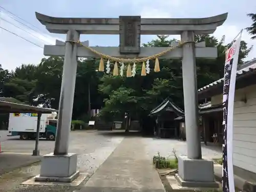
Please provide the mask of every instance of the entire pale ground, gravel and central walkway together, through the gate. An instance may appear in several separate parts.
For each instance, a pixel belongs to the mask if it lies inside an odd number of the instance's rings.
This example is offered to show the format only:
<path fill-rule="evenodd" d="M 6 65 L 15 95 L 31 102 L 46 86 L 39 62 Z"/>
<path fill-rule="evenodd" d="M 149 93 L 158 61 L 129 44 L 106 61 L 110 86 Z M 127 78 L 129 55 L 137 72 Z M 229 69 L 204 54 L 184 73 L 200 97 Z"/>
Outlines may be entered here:
<path fill-rule="evenodd" d="M 2 147 L 3 151 L 8 153 L 32 153 L 34 142 L 33 140 L 8 139 L 2 142 Z M 39 144 L 41 154 L 53 151 L 54 142 L 40 140 Z M 136 133 L 127 136 L 123 132 L 115 131 L 74 131 L 71 132 L 69 151 L 78 154 L 78 169 L 92 176 L 88 182 L 84 181 L 79 187 L 18 187 L 23 181 L 39 174 L 40 166 L 33 165 L 2 176 L 0 191 L 72 192 L 76 190 L 97 192 L 120 191 L 120 189 L 122 191 L 163 191 L 161 182 L 160 184 L 158 182 L 160 179 L 154 172 L 151 159 L 157 155 L 157 152 L 161 156 L 169 156 L 172 154 L 173 148 L 175 148 L 177 155 L 186 154 L 186 142 L 184 141 L 143 138 Z M 205 158 L 221 156 L 221 150 L 215 147 L 202 147 L 202 151 Z M 93 175 L 97 168 L 97 172 Z"/>

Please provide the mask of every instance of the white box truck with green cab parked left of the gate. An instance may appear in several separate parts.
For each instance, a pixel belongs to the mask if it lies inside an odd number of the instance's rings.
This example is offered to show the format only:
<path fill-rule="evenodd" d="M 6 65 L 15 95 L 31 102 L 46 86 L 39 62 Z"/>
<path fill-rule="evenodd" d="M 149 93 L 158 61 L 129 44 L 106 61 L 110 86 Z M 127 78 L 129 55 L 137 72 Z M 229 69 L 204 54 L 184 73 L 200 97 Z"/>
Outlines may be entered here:
<path fill-rule="evenodd" d="M 40 119 L 39 137 L 55 140 L 57 113 L 42 114 Z M 35 139 L 37 126 L 36 113 L 10 113 L 8 136 L 19 136 L 20 139 Z"/>

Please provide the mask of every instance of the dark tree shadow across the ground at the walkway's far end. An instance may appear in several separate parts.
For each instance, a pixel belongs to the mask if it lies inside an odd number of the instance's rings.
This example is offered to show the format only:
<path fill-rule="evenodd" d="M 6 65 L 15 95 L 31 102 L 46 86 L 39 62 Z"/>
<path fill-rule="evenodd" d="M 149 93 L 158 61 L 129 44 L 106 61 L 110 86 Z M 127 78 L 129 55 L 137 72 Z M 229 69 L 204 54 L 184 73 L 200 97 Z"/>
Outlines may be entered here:
<path fill-rule="evenodd" d="M 153 136 L 143 135 L 140 131 L 130 131 L 125 132 L 124 130 L 113 130 L 113 131 L 97 131 L 99 135 L 104 135 L 107 137 L 148 137 L 151 138 Z"/>

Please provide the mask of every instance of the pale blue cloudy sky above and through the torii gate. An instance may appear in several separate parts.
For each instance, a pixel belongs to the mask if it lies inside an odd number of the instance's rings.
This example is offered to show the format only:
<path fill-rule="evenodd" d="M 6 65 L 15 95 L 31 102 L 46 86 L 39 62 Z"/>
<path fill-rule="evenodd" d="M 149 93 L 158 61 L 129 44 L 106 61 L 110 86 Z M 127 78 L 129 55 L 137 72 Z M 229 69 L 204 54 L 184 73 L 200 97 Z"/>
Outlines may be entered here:
<path fill-rule="evenodd" d="M 207 2 L 207 3 L 206 3 Z M 35 17 L 39 12 L 55 17 L 114 17 L 119 15 L 141 15 L 142 18 L 200 18 L 228 12 L 226 22 L 213 34 L 218 39 L 225 35 L 228 44 L 252 23 L 248 13 L 255 13 L 255 0 L 0 0 L 0 64 L 4 69 L 14 70 L 24 64 L 37 65 L 44 57 L 44 45 L 54 45 L 55 39 L 66 39 L 65 35 L 49 33 Z M 4 9 L 3 9 L 4 8 Z M 7 11 L 6 11 L 7 10 Z M 15 17 L 11 13 L 22 18 Z M 17 20 L 19 22 L 17 22 Z M 24 22 L 24 20 L 26 22 Z M 26 24 L 28 27 L 20 24 Z M 10 24 L 11 23 L 11 24 Z M 13 24 L 13 25 L 12 25 Z M 14 26 L 15 25 L 15 26 Z M 32 29 L 34 30 L 32 30 Z M 180 36 L 171 36 L 177 39 Z M 142 43 L 155 38 L 142 35 Z M 118 46 L 118 35 L 81 35 L 81 41 L 89 40 L 90 46 Z M 256 39 L 251 40 L 246 30 L 242 40 L 253 46 L 247 60 L 256 57 Z M 36 45 L 34 45 L 36 44 Z"/>

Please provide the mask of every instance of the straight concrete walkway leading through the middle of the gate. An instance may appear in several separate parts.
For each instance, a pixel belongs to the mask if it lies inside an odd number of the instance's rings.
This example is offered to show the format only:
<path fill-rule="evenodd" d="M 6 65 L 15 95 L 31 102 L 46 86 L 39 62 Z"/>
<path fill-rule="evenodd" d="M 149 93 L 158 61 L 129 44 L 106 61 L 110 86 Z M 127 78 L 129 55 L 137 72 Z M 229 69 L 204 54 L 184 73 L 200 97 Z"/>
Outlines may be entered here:
<path fill-rule="evenodd" d="M 79 191 L 164 192 L 141 138 L 125 138 Z"/>

